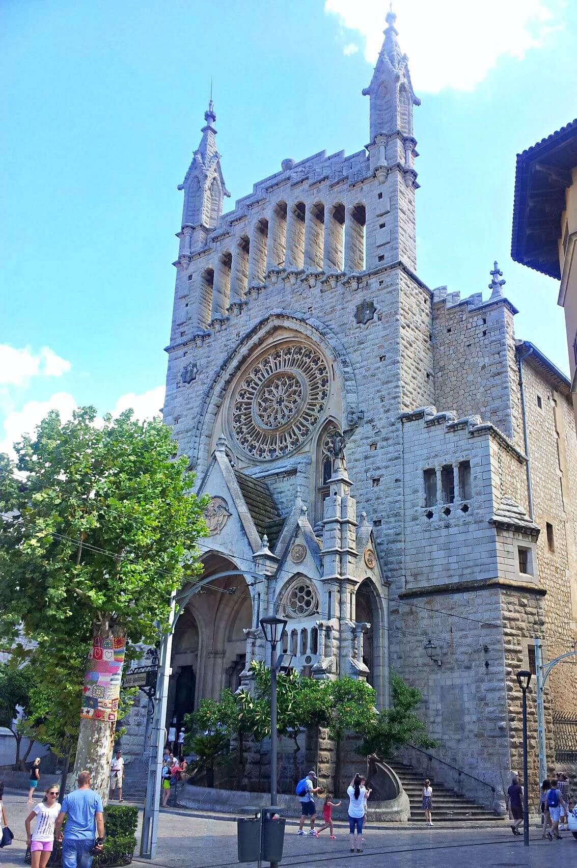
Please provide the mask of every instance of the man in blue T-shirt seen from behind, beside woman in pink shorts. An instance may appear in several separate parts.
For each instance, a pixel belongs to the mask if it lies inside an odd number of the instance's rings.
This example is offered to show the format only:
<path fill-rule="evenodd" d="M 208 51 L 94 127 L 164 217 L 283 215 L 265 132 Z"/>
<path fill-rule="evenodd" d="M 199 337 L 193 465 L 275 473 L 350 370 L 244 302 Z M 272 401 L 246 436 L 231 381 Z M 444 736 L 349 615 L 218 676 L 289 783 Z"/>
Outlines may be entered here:
<path fill-rule="evenodd" d="M 60 830 L 65 817 L 68 819 L 62 835 Z M 62 809 L 56 819 L 55 836 L 58 841 L 62 841 L 63 868 L 90 868 L 93 848 L 96 851 L 102 850 L 102 799 L 97 792 L 90 789 L 89 772 L 81 772 L 78 775 L 78 789 L 69 792 L 62 799 Z"/>

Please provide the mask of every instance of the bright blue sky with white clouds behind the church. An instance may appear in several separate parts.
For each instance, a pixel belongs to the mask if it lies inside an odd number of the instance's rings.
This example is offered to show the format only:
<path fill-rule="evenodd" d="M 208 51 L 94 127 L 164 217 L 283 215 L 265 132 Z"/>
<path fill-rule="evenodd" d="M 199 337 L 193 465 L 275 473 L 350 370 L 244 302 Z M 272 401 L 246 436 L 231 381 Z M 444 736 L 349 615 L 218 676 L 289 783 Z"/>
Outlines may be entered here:
<path fill-rule="evenodd" d="M 162 403 L 182 181 L 210 78 L 226 185 L 368 141 L 377 0 L 3 0 L 0 448 L 49 406 Z M 488 293 L 567 370 L 558 286 L 510 260 L 515 154 L 577 115 L 577 3 L 397 0 L 415 112 L 417 264 Z"/>

